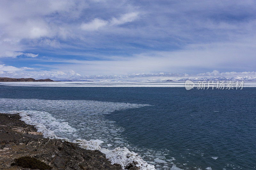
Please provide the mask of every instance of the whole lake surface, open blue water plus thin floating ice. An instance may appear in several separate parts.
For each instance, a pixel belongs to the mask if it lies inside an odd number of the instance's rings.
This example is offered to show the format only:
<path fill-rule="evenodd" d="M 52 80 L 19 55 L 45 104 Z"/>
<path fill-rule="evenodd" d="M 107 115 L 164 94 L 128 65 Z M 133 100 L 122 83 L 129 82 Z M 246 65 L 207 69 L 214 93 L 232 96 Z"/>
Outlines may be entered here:
<path fill-rule="evenodd" d="M 127 146 L 159 169 L 172 163 L 183 169 L 256 166 L 255 88 L 1 89 L 1 98 L 16 99 L 0 99 L 0 110 L 45 111 L 76 129 L 66 137 L 100 139 L 106 148 Z"/>

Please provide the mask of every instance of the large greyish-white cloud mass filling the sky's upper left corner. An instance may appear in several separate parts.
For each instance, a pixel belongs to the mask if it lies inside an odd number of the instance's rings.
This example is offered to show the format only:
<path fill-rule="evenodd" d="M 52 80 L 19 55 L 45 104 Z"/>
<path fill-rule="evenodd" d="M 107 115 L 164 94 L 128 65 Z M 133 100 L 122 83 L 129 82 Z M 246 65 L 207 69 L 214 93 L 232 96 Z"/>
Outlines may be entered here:
<path fill-rule="evenodd" d="M 33 46 L 49 44 L 56 47 L 55 38 L 66 38 L 70 30 L 69 25 L 59 21 L 63 18 L 65 21 L 79 18 L 86 8 L 87 3 L 80 0 L 1 1 L 0 57 L 16 57 L 18 55 L 15 52 L 28 51 Z M 50 38 L 52 42 L 44 44 L 34 41 L 42 37 Z M 26 45 L 22 43 L 24 40 Z M 36 57 L 32 54 L 23 55 Z"/>

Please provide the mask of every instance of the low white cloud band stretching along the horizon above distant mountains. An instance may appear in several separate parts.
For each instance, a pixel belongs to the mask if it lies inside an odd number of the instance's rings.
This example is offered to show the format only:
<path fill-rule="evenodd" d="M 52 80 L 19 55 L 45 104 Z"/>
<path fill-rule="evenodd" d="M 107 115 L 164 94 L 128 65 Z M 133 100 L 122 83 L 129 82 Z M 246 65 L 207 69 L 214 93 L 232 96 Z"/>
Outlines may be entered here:
<path fill-rule="evenodd" d="M 10 77 L 10 78 L 35 78 L 35 79 L 91 79 L 91 80 L 143 80 L 146 81 L 148 79 L 155 80 L 165 80 L 165 79 L 173 79 L 178 80 L 181 78 L 212 78 L 212 77 L 256 77 L 256 72 L 220 72 L 217 70 L 213 70 L 212 72 L 203 72 L 198 74 L 186 74 L 186 73 L 156 73 L 156 74 L 145 74 L 145 73 L 133 73 L 133 74 L 114 74 L 114 75 L 86 75 L 79 74 L 74 70 L 35 70 L 33 68 L 21 67 L 17 68 L 14 66 L 0 65 L 0 77 Z"/>

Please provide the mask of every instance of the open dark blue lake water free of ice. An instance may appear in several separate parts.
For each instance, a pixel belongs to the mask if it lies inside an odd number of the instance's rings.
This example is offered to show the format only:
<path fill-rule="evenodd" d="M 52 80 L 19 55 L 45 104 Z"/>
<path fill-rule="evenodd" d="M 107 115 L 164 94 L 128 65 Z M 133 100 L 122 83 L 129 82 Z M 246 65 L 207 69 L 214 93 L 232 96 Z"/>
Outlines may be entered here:
<path fill-rule="evenodd" d="M 150 105 L 118 109 L 104 117 L 123 128 L 122 135 L 133 147 L 165 150 L 160 158 L 188 169 L 256 169 L 255 96 L 256 88 L 0 86 L 0 98 L 5 99 Z M 44 111 L 47 106 L 40 107 Z"/>

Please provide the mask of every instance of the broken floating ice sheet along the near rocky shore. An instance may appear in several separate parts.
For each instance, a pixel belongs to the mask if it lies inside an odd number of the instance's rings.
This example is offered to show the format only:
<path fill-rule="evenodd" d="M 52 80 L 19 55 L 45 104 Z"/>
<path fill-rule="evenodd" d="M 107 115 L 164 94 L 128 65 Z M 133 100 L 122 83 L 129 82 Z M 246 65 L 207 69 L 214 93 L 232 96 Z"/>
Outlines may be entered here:
<path fill-rule="evenodd" d="M 6 105 L 8 103 L 8 105 Z M 47 107 L 46 107 L 47 106 Z M 94 100 L 39 100 L 39 99 L 5 99 L 0 98 L 1 112 L 22 114 L 28 124 L 35 125 L 45 137 L 74 141 L 80 138 L 81 147 L 108 153 L 110 150 L 126 147 L 131 153 L 139 153 L 137 162 L 141 168 L 152 168 L 157 160 L 168 161 L 157 163 L 157 169 L 170 169 L 174 158 L 166 159 L 167 150 L 154 150 L 132 146 L 123 136 L 124 128 L 115 121 L 109 121 L 104 114 L 111 114 L 115 110 L 150 106 L 145 104 L 131 104 L 119 102 L 102 102 Z M 10 111 L 18 110 L 18 111 Z M 96 140 L 95 140 L 96 139 Z M 98 139 L 98 140 L 97 140 Z M 82 141 L 84 140 L 84 141 Z M 77 141 L 78 142 L 78 141 Z M 96 144 L 97 142 L 97 144 Z M 82 144 L 83 143 L 83 144 Z M 122 154 L 125 155 L 125 154 Z M 133 158 L 133 157 L 132 157 Z M 131 159 L 132 159 L 131 158 Z M 126 159 L 126 158 L 125 158 Z M 147 162 L 145 162 L 144 160 Z M 123 160 L 123 159 L 120 159 Z M 112 160 L 113 161 L 113 160 Z M 141 161 L 144 161 L 141 163 Z M 148 164 L 148 166 L 145 163 Z M 127 164 L 123 165 L 124 167 Z"/>

